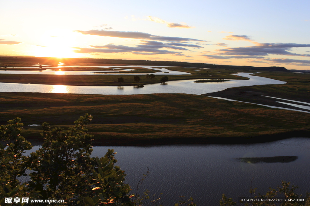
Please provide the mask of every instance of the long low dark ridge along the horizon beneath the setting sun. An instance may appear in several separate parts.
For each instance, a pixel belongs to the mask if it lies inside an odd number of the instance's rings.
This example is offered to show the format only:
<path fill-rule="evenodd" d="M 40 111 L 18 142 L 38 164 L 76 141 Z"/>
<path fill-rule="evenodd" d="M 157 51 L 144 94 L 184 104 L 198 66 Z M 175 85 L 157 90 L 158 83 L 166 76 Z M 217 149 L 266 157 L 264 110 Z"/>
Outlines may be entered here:
<path fill-rule="evenodd" d="M 123 64 L 123 65 L 148 65 L 148 66 L 184 66 L 207 69 L 237 69 L 237 70 L 264 70 L 264 71 L 289 71 L 285 67 L 269 66 L 234 66 L 234 65 L 216 65 L 205 63 L 190 63 L 182 61 L 149 61 L 149 60 L 124 60 L 124 59 L 92 59 L 92 58 L 50 58 L 50 57 L 11 57 L 0 56 L 0 63 L 9 62 L 32 62 L 35 64 L 58 63 L 59 61 L 66 64 Z M 9 65 L 8 65 L 9 66 Z"/>

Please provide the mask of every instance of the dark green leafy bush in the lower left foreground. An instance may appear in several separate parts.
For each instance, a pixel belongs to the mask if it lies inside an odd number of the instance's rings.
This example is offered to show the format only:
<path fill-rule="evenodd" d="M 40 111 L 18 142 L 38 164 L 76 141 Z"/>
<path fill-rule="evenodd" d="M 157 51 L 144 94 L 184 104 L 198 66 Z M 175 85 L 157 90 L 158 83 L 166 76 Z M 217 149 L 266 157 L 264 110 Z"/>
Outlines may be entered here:
<path fill-rule="evenodd" d="M 91 119 L 88 114 L 81 116 L 68 129 L 51 129 L 43 123 L 44 143 L 30 157 L 23 155 L 33 146 L 20 135 L 21 119 L 1 125 L 0 140 L 4 144 L 0 144 L 0 205 L 6 205 L 6 197 L 66 201 L 57 205 L 157 205 L 158 199 L 149 200 L 148 192 L 142 196 L 129 194 L 125 172 L 114 166 L 117 160 L 113 149 L 108 149 L 104 157 L 91 157 L 92 135 L 86 128 Z M 26 170 L 30 170 L 29 174 Z M 20 183 L 17 178 L 22 175 L 28 175 L 31 181 Z M 185 201 L 180 205 L 195 206 Z"/>

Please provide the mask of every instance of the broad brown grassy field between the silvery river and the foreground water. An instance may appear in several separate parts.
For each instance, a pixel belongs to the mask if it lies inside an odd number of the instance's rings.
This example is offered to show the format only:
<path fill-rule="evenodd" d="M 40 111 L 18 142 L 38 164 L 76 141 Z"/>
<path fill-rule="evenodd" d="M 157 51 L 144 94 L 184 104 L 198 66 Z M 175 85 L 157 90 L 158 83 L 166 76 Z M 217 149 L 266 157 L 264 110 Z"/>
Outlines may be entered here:
<path fill-rule="evenodd" d="M 22 135 L 42 140 L 40 126 L 69 127 L 86 112 L 95 145 L 240 143 L 309 136 L 310 114 L 202 95 L 0 93 L 0 123 L 22 118 Z"/>

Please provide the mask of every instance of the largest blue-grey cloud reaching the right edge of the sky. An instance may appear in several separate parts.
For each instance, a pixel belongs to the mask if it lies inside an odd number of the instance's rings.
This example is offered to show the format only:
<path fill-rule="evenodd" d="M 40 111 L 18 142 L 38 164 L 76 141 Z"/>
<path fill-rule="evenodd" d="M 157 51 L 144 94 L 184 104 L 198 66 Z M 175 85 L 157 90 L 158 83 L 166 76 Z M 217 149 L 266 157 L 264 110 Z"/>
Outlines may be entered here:
<path fill-rule="evenodd" d="M 255 46 L 218 49 L 216 51 L 218 55 L 267 56 L 269 54 L 277 54 L 310 57 L 310 54 L 296 54 L 288 52 L 291 48 L 310 47 L 310 44 L 254 43 L 256 44 Z"/>

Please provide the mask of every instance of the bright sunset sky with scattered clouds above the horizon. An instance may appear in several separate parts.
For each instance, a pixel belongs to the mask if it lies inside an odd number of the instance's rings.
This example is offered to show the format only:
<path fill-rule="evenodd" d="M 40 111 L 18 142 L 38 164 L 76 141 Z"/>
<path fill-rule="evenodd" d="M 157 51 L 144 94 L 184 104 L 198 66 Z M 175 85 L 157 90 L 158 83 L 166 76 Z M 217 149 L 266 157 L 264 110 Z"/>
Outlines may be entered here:
<path fill-rule="evenodd" d="M 310 70 L 310 1 L 0 2 L 0 55 Z"/>

